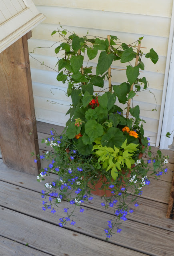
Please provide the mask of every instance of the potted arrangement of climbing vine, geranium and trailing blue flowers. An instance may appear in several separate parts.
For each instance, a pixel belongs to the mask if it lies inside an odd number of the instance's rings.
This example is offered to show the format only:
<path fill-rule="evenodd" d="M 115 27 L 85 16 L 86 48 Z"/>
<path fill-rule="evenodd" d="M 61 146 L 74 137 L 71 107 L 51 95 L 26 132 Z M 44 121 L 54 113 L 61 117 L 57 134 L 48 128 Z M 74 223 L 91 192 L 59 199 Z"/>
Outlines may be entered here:
<path fill-rule="evenodd" d="M 148 87 L 146 78 L 139 78 L 140 70 L 144 70 L 142 57 L 156 64 L 158 55 L 153 49 L 142 53 L 142 38 L 127 45 L 118 43 L 116 36 L 79 37 L 75 33 L 67 36 L 66 30 L 53 31 L 52 35 L 55 33 L 64 39 L 55 49 L 56 54 L 62 52 L 56 64 L 57 80 L 68 84 L 67 96 L 71 96 L 72 104 L 66 113 L 70 119 L 64 132 L 50 131 L 50 137 L 42 143 L 52 146 L 52 150 L 35 160 L 49 160 L 48 168 L 40 170 L 38 182 L 45 180 L 49 172 L 58 174 L 42 190 L 42 209 L 54 213 L 61 200 L 67 200 L 69 207 L 64 208 L 59 226 L 74 225 L 74 209 L 84 212 L 83 203 L 92 200 L 93 194 L 100 195 L 101 206 L 114 210 L 104 230 L 108 239 L 114 228 L 120 233 L 118 220 L 127 220 L 127 214 L 133 212 L 132 205 L 138 206 L 137 198 L 143 186 L 150 184 L 150 176 L 157 178 L 167 172 L 168 156 L 162 156 L 160 150 L 152 154 L 150 138 L 144 137 L 145 121 L 140 118 L 140 108 L 138 105 L 130 108 L 136 92 Z M 97 66 L 89 66 L 96 56 L 99 56 Z M 135 66 L 132 60 L 136 60 Z M 119 61 L 127 64 L 127 79 L 120 85 L 112 85 L 111 65 L 116 66 Z M 148 161 L 142 159 L 144 152 Z M 131 204 L 126 203 L 130 194 Z"/>

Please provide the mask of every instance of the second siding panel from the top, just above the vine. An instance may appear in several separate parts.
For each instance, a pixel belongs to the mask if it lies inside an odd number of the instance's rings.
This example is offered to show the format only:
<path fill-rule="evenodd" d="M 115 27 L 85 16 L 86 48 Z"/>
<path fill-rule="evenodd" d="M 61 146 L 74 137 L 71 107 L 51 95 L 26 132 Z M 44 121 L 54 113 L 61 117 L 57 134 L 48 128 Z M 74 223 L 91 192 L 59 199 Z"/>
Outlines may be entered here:
<path fill-rule="evenodd" d="M 96 10 L 61 8 L 53 6 L 37 6 L 39 12 L 46 15 L 44 23 L 80 26 L 121 32 L 147 34 L 168 37 L 170 18 L 102 12 Z M 76 18 L 74 18 L 76 17 Z M 84 18 L 87 17 L 87 18 Z"/>

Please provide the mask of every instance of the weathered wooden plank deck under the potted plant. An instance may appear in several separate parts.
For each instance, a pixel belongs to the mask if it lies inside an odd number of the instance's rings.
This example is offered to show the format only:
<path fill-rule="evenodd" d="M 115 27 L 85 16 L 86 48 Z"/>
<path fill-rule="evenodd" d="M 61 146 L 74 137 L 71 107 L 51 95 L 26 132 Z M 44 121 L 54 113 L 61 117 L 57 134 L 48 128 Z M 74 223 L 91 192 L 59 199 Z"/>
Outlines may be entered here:
<path fill-rule="evenodd" d="M 41 139 L 56 126 L 39 122 L 37 127 Z M 40 144 L 42 154 L 47 149 Z M 173 170 L 174 152 L 163 151 L 170 155 L 168 168 Z M 170 170 L 144 187 L 139 207 L 132 207 L 134 213 L 122 223 L 122 232 L 107 242 L 104 229 L 113 209 L 105 210 L 100 197 L 93 196 L 84 204 L 76 226 L 60 228 L 59 218 L 69 203 L 61 202 L 55 214 L 43 211 L 39 193 L 44 184 L 35 176 L 9 169 L 0 159 L 0 256 L 174 256 L 174 220 L 165 218 L 173 174 Z"/>

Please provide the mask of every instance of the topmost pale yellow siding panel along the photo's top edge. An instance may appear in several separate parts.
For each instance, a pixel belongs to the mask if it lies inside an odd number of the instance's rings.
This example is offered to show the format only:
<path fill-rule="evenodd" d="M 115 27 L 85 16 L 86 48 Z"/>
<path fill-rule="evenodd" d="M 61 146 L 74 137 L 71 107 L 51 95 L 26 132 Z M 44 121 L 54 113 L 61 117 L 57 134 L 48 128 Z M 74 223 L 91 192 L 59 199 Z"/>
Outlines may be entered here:
<path fill-rule="evenodd" d="M 171 17 L 172 0 L 34 0 L 34 4 Z"/>

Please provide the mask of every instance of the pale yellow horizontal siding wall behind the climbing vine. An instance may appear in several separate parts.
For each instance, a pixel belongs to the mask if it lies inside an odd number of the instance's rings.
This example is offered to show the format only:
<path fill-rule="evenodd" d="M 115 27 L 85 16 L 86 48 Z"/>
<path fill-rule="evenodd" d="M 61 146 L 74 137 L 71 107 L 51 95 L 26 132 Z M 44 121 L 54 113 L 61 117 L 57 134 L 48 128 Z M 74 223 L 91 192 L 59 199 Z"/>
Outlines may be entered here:
<path fill-rule="evenodd" d="M 84 36 L 89 30 L 90 35 L 106 37 L 112 34 L 127 44 L 144 36 L 142 46 L 147 49 L 143 52 L 146 53 L 150 48 L 154 48 L 159 60 L 153 65 L 149 59 L 144 58 L 145 70 L 140 76 L 147 78 L 149 88 L 134 97 L 134 106 L 140 105 L 140 115 L 146 120 L 145 135 L 152 136 L 150 140 L 153 145 L 156 142 L 160 116 L 172 2 L 172 0 L 34 0 L 39 12 L 47 18 L 33 29 L 32 38 L 28 40 L 29 51 L 37 46 L 49 47 L 59 41 L 57 34 L 51 36 L 51 32 L 57 29 L 59 22 L 65 29 L 76 32 L 78 36 Z M 58 45 L 59 43 L 56 44 Z M 32 56 L 52 68 L 57 62 L 54 46 L 36 49 Z M 90 60 L 90 63 L 96 66 L 96 58 Z M 30 64 L 36 118 L 64 126 L 68 120 L 68 116 L 65 117 L 64 114 L 69 108 L 67 105 L 71 103 L 70 98 L 62 91 L 66 91 L 67 84 L 57 82 L 57 73 L 46 66 L 41 66 L 33 58 L 30 58 Z M 116 65 L 119 68 L 125 67 L 125 64 L 119 62 Z M 112 84 L 119 84 L 125 80 L 124 71 L 112 71 Z M 105 86 L 107 87 L 107 82 Z M 53 89 L 51 93 L 52 88 L 61 90 Z M 147 111 L 156 106 L 153 94 L 158 104 L 157 112 Z M 51 104 L 47 100 L 62 105 Z"/>

